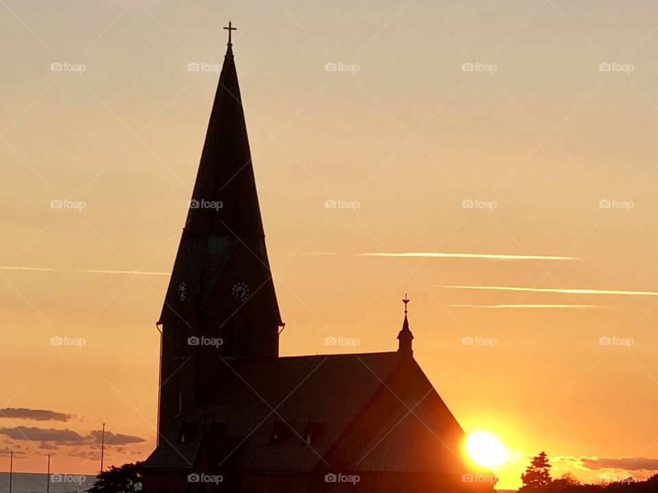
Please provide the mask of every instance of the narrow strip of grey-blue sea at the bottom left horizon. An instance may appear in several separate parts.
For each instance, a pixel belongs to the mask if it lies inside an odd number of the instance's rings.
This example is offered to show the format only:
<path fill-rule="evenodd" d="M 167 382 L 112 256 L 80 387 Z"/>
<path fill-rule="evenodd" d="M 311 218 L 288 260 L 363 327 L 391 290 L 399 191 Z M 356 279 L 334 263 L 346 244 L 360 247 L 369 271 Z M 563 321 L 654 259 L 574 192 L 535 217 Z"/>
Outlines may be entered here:
<path fill-rule="evenodd" d="M 12 493 L 46 493 L 48 475 L 14 472 Z M 50 493 L 80 493 L 94 484 L 95 476 L 50 475 Z M 9 492 L 9 472 L 0 472 L 0 493 Z"/>

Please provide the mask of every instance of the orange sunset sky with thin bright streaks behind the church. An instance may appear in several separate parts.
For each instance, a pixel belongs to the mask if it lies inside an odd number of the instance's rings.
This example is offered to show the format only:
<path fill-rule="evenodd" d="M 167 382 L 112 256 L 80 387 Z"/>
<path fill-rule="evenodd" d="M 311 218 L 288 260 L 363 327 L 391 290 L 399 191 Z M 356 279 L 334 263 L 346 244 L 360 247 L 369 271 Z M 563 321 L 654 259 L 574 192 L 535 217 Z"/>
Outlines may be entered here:
<path fill-rule="evenodd" d="M 230 18 L 282 355 L 394 351 L 408 292 L 415 358 L 508 449 L 498 487 L 542 450 L 554 477 L 657 472 L 657 3 L 0 12 L 0 470 L 95 474 L 103 422 L 106 465 L 154 448 Z"/>

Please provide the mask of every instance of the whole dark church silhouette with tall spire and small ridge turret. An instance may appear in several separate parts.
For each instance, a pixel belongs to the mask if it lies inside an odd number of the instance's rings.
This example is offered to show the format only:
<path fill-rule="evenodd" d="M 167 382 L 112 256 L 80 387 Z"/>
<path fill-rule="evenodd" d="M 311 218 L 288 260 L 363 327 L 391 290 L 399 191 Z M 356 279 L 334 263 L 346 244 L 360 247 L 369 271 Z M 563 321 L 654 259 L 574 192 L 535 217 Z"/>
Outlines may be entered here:
<path fill-rule="evenodd" d="M 143 490 L 493 492 L 413 358 L 406 298 L 398 351 L 279 357 L 283 324 L 228 29 L 158 321 L 158 444 Z"/>

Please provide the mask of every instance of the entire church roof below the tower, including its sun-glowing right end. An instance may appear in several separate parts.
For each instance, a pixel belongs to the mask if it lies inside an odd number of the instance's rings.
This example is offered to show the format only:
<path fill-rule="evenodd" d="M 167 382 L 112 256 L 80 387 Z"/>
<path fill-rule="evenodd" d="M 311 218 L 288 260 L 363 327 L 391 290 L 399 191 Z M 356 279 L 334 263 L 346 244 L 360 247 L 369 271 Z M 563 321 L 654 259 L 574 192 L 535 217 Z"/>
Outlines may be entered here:
<path fill-rule="evenodd" d="M 217 457 L 215 467 L 312 471 L 352 433 L 350 427 L 376 395 L 391 397 L 391 378 L 403 363 L 412 368 L 404 370 L 404 385 L 416 388 L 416 396 L 406 396 L 404 402 L 391 398 L 393 407 L 385 412 L 383 424 L 344 465 L 348 470 L 376 472 L 454 471 L 455 459 L 460 460 L 454 445 L 463 430 L 419 366 L 397 352 L 234 361 L 227 366 L 216 400 L 197 407 L 186 420 L 201 423 L 212 416 L 221 427 L 221 434 L 205 442 L 205 450 Z M 178 451 L 161 441 L 147 466 L 193 464 L 202 448 L 202 433 L 189 440 L 193 443 L 188 441 Z"/>

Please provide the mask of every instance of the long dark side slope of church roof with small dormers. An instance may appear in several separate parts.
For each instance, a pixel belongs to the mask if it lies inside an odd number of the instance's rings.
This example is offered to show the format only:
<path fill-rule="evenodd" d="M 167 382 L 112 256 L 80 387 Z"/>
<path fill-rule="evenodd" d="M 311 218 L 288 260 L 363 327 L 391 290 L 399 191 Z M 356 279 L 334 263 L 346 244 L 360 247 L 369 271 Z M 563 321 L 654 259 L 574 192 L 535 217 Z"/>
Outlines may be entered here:
<path fill-rule="evenodd" d="M 239 452 L 241 468 L 312 470 L 398 362 L 396 352 L 242 359 L 227 368 L 217 401 L 197 407 L 188 419 L 213 416 L 226 425 L 226 437 L 247 438 Z M 318 425 L 310 446 L 309 423 Z M 274 427 L 281 433 L 276 440 Z M 147 466 L 192 464 L 200 436 L 178 451 L 177 439 L 160 440 Z"/>

